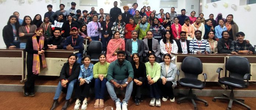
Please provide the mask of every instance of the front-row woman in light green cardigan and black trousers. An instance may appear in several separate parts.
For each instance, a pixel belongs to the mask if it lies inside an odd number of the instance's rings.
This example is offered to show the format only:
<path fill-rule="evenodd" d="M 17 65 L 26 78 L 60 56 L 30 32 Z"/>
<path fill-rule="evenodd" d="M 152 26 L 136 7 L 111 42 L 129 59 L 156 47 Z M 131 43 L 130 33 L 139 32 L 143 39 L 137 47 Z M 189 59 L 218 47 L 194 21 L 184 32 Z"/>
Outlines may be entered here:
<path fill-rule="evenodd" d="M 150 106 L 161 106 L 159 88 L 157 86 L 157 80 L 160 78 L 161 66 L 155 62 L 156 55 L 154 53 L 149 54 L 149 62 L 145 63 L 147 73 L 147 84 L 150 89 L 151 101 Z"/>

